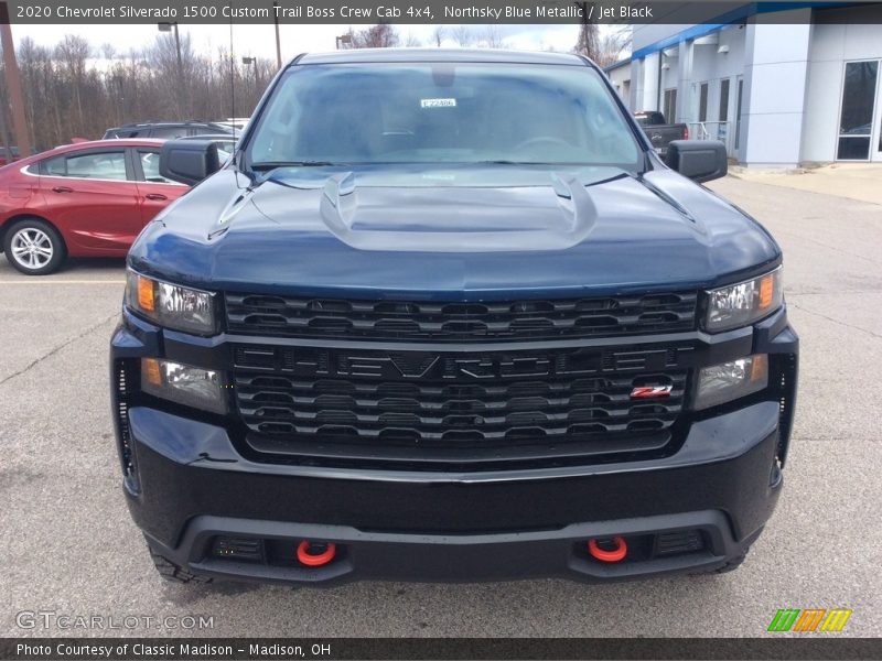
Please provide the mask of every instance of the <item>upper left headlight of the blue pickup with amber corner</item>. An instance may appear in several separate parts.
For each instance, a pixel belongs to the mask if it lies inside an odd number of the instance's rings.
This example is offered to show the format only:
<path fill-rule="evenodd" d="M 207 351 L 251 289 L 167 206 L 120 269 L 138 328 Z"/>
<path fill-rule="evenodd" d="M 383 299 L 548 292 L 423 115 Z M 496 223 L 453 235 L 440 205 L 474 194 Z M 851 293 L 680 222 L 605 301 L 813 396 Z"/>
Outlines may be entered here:
<path fill-rule="evenodd" d="M 126 305 L 165 328 L 198 335 L 217 333 L 215 294 L 169 284 L 129 271 Z"/>

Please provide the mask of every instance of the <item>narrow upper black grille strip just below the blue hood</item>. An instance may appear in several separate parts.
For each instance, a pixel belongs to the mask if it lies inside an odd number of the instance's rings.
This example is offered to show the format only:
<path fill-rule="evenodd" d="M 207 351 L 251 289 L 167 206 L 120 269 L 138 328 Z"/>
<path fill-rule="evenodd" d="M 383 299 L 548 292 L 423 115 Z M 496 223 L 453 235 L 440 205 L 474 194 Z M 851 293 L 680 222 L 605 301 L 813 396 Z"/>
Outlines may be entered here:
<path fill-rule="evenodd" d="M 227 329 L 276 337 L 549 339 L 677 333 L 696 325 L 696 293 L 481 303 L 226 294 Z"/>

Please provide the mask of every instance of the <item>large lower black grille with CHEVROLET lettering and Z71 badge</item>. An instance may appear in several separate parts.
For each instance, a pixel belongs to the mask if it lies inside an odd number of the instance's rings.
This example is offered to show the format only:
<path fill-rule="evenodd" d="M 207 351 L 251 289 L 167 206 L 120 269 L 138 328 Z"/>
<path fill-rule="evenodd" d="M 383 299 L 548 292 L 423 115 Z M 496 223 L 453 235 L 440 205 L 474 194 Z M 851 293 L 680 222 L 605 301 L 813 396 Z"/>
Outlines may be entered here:
<path fill-rule="evenodd" d="M 664 447 L 682 409 L 692 346 L 233 350 L 236 403 L 256 449 L 478 467 Z M 645 386 L 670 393 L 633 399 Z"/>

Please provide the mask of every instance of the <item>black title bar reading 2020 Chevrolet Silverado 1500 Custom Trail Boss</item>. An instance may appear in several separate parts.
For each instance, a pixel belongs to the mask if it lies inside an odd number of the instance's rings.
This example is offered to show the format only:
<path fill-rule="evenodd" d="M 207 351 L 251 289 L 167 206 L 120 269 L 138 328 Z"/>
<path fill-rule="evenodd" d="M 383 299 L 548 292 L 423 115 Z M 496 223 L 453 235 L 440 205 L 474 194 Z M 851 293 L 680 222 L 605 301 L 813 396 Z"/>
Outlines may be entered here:
<path fill-rule="evenodd" d="M 882 24 L 880 2 L 620 0 L 15 0 L 12 24 Z M 851 11 L 848 11 L 851 9 Z M 802 11 L 800 11 L 802 10 Z M 859 12 L 856 19 L 856 10 Z M 814 18 L 813 18 L 814 14 Z"/>

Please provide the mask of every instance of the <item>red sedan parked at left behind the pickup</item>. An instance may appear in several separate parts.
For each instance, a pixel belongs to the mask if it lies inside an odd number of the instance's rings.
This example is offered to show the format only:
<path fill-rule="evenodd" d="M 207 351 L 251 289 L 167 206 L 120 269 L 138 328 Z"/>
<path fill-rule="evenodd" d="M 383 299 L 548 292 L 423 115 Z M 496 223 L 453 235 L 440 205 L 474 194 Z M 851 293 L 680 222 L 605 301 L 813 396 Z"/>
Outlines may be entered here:
<path fill-rule="evenodd" d="M 0 167 L 0 246 L 22 273 L 66 257 L 125 257 L 189 188 L 159 174 L 161 140 L 66 144 Z"/>

